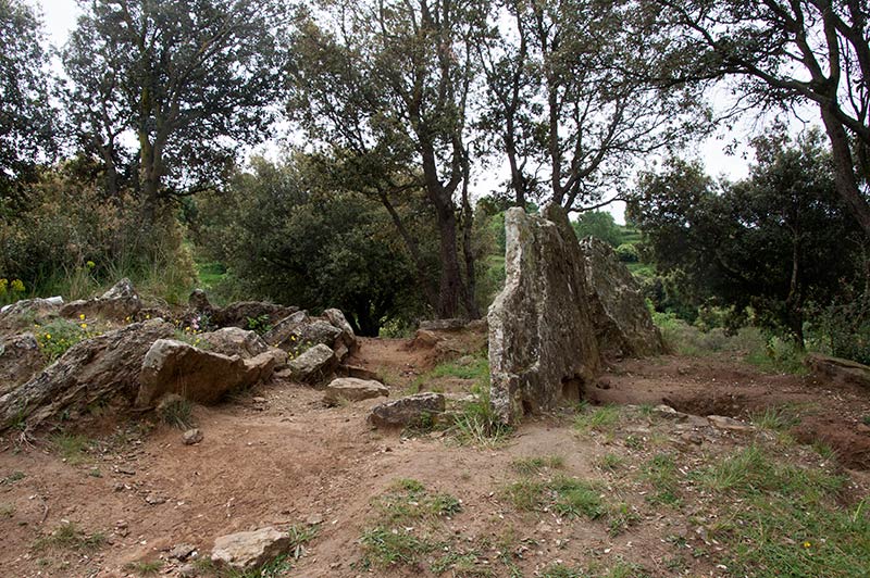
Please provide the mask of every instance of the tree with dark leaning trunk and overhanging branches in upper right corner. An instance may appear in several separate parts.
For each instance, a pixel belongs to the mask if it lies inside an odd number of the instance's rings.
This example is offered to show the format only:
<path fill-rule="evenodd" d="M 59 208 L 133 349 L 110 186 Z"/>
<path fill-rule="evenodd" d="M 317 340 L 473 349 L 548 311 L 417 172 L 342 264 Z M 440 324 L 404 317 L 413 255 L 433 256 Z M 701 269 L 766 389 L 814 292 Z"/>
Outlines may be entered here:
<path fill-rule="evenodd" d="M 663 84 L 730 78 L 747 108 L 815 105 L 831 142 L 837 191 L 870 236 L 866 0 L 656 0 L 637 7 L 644 27 L 659 30 L 644 55 Z"/>

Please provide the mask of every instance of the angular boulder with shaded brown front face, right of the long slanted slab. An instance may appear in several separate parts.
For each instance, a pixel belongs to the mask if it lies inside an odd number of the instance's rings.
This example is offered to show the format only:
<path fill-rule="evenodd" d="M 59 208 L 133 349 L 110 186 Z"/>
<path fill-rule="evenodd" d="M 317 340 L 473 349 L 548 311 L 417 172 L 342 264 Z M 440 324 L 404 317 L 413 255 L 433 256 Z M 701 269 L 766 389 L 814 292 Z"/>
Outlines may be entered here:
<path fill-rule="evenodd" d="M 246 360 L 204 351 L 184 341 L 159 339 L 142 361 L 136 405 L 150 406 L 165 393 L 215 403 L 228 391 L 270 378 L 276 363 L 272 352 Z"/>

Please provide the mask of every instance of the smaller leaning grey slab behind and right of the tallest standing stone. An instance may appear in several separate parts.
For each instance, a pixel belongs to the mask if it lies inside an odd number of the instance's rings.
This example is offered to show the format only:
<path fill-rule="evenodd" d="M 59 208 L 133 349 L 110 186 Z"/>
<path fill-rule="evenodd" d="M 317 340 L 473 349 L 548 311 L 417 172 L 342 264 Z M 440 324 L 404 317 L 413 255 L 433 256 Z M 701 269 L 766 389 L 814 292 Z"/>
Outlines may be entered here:
<path fill-rule="evenodd" d="M 598 349 L 612 357 L 643 357 L 663 352 L 661 335 L 652 324 L 641 287 L 604 241 L 581 241 L 586 275 L 586 300 Z"/>

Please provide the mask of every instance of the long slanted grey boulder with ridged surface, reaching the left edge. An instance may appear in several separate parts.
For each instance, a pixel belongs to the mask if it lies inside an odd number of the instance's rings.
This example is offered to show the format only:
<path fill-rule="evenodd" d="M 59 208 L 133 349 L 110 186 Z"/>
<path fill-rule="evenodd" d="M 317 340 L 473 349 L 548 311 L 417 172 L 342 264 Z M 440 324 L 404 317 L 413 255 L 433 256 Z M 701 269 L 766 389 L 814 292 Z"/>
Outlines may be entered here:
<path fill-rule="evenodd" d="M 151 319 L 76 343 L 33 379 L 0 397 L 0 430 L 22 424 L 34 428 L 95 403 L 116 399 L 130 403 L 146 353 L 173 330 L 163 319 Z"/>

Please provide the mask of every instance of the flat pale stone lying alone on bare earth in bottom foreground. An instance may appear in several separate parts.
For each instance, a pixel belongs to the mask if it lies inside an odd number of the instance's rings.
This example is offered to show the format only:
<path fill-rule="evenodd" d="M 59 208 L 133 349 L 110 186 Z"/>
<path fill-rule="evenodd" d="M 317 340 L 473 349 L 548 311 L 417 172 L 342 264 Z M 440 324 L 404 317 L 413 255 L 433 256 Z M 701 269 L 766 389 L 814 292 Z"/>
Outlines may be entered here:
<path fill-rule="evenodd" d="M 268 526 L 217 538 L 214 540 L 211 560 L 215 564 L 247 574 L 286 553 L 291 543 L 288 532 Z"/>

